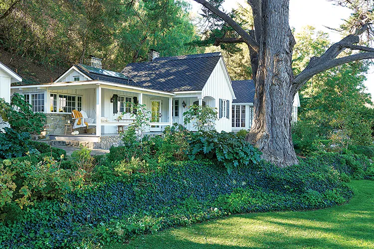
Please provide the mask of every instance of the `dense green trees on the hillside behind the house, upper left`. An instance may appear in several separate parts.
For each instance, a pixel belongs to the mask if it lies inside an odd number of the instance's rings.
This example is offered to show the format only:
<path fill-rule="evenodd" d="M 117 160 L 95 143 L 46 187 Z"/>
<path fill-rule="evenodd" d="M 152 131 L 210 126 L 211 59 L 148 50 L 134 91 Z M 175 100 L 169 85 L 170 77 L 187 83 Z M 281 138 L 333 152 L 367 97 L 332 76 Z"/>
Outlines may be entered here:
<path fill-rule="evenodd" d="M 185 45 L 196 37 L 188 8 L 183 0 L 4 0 L 0 44 L 48 66 L 95 55 L 118 71 L 147 60 L 151 48 L 163 56 L 196 52 Z"/>

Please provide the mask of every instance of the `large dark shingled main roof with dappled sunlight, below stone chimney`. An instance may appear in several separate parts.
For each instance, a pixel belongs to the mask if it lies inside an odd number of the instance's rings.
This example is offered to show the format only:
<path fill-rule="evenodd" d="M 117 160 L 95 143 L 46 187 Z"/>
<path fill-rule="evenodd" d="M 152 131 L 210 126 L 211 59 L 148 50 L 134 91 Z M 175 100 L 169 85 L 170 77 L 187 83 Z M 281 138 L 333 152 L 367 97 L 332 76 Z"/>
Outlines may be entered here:
<path fill-rule="evenodd" d="M 221 53 L 155 58 L 129 63 L 122 73 L 145 88 L 161 91 L 200 91 L 217 65 Z"/>

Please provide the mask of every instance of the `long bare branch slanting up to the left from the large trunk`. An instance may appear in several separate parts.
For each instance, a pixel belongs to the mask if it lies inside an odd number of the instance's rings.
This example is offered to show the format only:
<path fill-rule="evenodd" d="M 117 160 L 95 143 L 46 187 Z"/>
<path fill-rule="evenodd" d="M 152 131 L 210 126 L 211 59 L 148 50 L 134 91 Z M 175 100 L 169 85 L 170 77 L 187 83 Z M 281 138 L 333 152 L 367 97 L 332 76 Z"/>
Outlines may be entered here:
<path fill-rule="evenodd" d="M 242 28 L 239 24 L 237 24 L 231 17 L 229 17 L 226 13 L 220 11 L 218 8 L 207 2 L 206 0 L 194 0 L 195 2 L 200 3 L 202 6 L 209 9 L 213 14 L 220 17 L 223 21 L 225 21 L 230 27 L 232 27 L 236 33 L 240 37 L 242 37 L 245 43 L 248 44 L 254 51 L 259 51 L 258 43 Z"/>

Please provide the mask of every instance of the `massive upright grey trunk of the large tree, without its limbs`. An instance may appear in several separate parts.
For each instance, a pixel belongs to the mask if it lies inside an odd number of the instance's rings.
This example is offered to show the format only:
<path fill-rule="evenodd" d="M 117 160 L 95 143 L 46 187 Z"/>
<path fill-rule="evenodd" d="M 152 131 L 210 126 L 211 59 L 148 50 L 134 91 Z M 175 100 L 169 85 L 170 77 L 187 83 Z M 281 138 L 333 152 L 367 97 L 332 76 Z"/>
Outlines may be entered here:
<path fill-rule="evenodd" d="M 247 141 L 278 166 L 298 163 L 291 137 L 292 50 L 295 44 L 288 24 L 288 0 L 263 0 L 261 6 L 258 65 L 254 80 L 254 123 Z M 256 29 L 258 27 L 256 26 Z"/>

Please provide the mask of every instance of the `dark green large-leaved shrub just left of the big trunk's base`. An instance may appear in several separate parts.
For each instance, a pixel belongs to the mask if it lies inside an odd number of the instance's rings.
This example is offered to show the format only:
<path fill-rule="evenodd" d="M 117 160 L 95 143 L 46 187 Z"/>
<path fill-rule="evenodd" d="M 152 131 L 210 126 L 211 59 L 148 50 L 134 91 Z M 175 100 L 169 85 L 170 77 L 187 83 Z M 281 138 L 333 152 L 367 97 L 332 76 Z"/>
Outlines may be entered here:
<path fill-rule="evenodd" d="M 260 161 L 260 153 L 257 149 L 234 133 L 196 132 L 191 134 L 189 143 L 190 159 L 215 159 L 222 163 L 228 172 L 239 165 Z"/>

